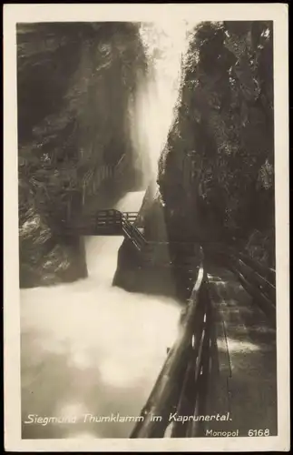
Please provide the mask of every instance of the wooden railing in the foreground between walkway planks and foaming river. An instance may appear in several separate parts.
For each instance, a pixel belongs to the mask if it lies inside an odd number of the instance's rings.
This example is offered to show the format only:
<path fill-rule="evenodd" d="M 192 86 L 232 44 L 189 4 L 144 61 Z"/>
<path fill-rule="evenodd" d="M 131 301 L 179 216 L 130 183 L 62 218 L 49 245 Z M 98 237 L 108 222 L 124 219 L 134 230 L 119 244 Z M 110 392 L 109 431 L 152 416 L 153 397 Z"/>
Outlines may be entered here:
<path fill-rule="evenodd" d="M 175 412 L 193 416 L 200 398 L 200 376 L 210 325 L 207 276 L 202 262 L 195 279 L 190 299 L 181 315 L 178 338 L 168 353 L 142 409 L 142 420 L 132 430 L 131 438 L 163 438 L 168 432 L 171 432 L 171 437 L 178 437 L 182 432 L 194 435 L 197 431 L 194 421 L 190 425 L 190 421 L 178 423 L 170 420 Z"/>

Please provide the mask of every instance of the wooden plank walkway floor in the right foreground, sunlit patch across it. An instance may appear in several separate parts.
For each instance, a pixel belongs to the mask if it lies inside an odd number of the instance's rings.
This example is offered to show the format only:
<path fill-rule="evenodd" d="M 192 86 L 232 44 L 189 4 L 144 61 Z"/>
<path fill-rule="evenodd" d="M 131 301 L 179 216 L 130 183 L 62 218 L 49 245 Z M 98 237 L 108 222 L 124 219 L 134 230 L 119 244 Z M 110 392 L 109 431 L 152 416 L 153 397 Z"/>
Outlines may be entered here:
<path fill-rule="evenodd" d="M 230 412 L 228 421 L 206 422 L 207 431 L 268 430 L 277 435 L 276 330 L 233 273 L 209 275 L 213 307 L 207 415 Z"/>

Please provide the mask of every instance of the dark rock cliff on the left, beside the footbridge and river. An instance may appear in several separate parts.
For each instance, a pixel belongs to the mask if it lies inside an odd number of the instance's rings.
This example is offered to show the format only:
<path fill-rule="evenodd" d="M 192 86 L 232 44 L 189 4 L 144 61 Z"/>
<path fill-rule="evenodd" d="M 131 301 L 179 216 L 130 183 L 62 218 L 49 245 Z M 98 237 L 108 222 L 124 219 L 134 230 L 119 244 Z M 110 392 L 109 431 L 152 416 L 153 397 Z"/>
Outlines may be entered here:
<path fill-rule="evenodd" d="M 131 23 L 17 28 L 20 284 L 86 275 L 83 246 L 63 235 L 127 158 L 139 178 L 129 103 L 146 67 Z"/>

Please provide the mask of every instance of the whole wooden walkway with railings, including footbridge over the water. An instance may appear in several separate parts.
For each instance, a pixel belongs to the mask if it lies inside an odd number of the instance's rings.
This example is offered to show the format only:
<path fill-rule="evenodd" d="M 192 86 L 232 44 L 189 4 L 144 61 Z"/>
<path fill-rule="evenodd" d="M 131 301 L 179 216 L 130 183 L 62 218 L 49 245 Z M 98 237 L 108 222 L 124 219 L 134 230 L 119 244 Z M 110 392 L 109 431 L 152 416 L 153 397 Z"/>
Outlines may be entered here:
<path fill-rule="evenodd" d="M 223 428 L 247 436 L 259 421 L 276 435 L 275 270 L 220 244 L 147 241 L 136 226 L 137 215 L 98 210 L 86 225 L 68 230 L 83 236 L 121 235 L 148 266 L 188 266 L 192 286 L 178 338 L 131 438 L 205 436 Z M 214 266 L 219 263 L 220 268 Z M 227 417 L 224 424 L 215 417 L 219 412 Z"/>

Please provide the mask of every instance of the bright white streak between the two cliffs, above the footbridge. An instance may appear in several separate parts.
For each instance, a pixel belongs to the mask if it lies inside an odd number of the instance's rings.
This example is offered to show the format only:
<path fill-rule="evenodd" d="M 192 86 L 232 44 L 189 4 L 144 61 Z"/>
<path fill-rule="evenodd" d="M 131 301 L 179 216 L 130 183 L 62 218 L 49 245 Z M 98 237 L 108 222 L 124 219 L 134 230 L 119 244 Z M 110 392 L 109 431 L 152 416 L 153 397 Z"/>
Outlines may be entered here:
<path fill-rule="evenodd" d="M 132 145 L 144 186 L 157 174 L 158 160 L 172 125 L 181 84 L 181 64 L 188 44 L 187 21 L 142 23 L 140 35 L 148 60 L 130 102 Z"/>

